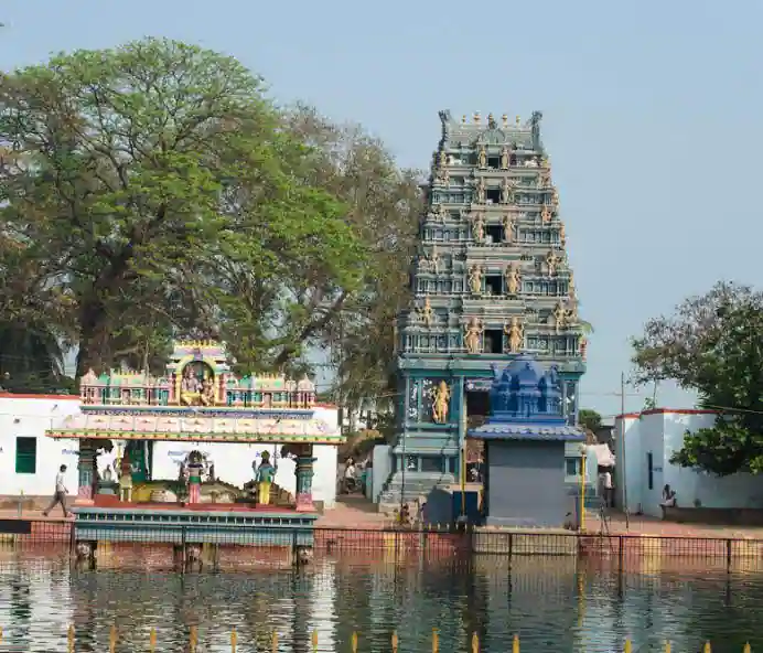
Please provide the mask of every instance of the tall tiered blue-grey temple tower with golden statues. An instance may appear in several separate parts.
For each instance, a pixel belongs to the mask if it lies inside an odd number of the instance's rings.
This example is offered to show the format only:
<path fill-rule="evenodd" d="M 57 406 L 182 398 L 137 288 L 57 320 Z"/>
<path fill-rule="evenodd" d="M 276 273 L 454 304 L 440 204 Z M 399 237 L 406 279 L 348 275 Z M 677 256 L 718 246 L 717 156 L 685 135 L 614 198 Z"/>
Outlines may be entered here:
<path fill-rule="evenodd" d="M 490 413 L 493 364 L 526 353 L 556 366 L 563 415 L 577 422 L 585 328 L 540 119 L 440 113 L 413 306 L 397 323 L 399 438 L 383 503 L 458 479 L 464 416 Z"/>

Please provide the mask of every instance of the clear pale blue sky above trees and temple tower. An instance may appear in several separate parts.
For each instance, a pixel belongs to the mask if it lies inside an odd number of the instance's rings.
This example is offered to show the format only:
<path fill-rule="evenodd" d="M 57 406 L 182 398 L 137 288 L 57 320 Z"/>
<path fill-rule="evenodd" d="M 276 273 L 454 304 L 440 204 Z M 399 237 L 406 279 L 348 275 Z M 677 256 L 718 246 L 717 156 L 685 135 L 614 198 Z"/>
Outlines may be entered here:
<path fill-rule="evenodd" d="M 644 321 L 719 278 L 760 282 L 762 3 L 6 0 L 0 21 L 2 68 L 146 35 L 232 54 L 277 99 L 358 121 L 417 168 L 439 109 L 542 110 L 595 328 L 582 404 L 604 414 Z"/>

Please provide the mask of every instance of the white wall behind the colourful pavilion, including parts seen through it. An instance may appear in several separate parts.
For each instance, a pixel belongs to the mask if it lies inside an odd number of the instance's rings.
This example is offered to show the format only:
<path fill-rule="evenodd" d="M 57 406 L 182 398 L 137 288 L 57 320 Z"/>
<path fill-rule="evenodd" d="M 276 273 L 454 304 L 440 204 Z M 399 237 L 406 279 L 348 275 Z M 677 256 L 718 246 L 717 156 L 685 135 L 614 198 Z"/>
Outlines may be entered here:
<path fill-rule="evenodd" d="M 78 472 L 77 440 L 54 440 L 45 437 L 45 430 L 58 426 L 68 415 L 79 411 L 78 397 L 14 397 L 0 396 L 0 495 L 42 496 L 53 494 L 55 474 L 61 464 L 66 464 L 66 486 L 71 494 L 77 493 Z M 318 407 L 315 418 L 329 422 L 336 429 L 336 408 Z M 36 473 L 15 473 L 15 438 L 37 439 Z M 116 445 L 116 442 L 115 442 Z M 280 445 L 233 445 L 201 442 L 154 442 L 153 478 L 176 479 L 179 461 L 194 449 L 205 452 L 215 463 L 215 474 L 223 481 L 241 486 L 252 479 L 251 463 L 264 450 L 281 450 Z M 323 501 L 331 509 L 336 503 L 336 447 L 316 445 L 313 477 L 313 499 Z M 114 462 L 116 447 L 110 454 L 98 457 L 98 469 L 103 473 L 107 464 Z M 259 460 L 258 460 L 259 462 Z M 276 482 L 292 494 L 297 491 L 294 461 L 278 460 Z"/>

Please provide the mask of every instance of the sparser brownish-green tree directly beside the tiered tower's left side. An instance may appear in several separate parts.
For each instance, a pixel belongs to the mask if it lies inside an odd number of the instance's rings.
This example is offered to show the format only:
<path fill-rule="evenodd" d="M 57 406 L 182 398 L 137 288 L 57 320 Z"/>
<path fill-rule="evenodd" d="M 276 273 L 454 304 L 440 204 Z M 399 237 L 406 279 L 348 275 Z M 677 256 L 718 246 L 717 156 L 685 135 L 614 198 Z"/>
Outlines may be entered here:
<path fill-rule="evenodd" d="M 341 405 L 370 400 L 389 408 L 397 313 L 410 300 L 409 270 L 422 208 L 421 175 L 400 169 L 384 144 L 357 125 L 335 125 L 315 109 L 295 107 L 295 137 L 311 148 L 310 182 L 347 206 L 363 247 L 361 283 L 337 297 L 322 344 L 332 349 Z"/>

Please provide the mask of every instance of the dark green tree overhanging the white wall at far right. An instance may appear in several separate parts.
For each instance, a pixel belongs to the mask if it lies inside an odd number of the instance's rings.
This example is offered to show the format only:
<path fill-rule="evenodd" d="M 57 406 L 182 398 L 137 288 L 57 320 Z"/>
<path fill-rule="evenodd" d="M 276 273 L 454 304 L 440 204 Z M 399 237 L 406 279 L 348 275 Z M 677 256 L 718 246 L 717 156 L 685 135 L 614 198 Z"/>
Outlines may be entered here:
<path fill-rule="evenodd" d="M 763 292 L 718 283 L 647 322 L 633 341 L 642 383 L 674 379 L 719 411 L 686 435 L 674 462 L 724 475 L 763 471 Z"/>

